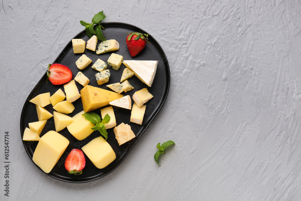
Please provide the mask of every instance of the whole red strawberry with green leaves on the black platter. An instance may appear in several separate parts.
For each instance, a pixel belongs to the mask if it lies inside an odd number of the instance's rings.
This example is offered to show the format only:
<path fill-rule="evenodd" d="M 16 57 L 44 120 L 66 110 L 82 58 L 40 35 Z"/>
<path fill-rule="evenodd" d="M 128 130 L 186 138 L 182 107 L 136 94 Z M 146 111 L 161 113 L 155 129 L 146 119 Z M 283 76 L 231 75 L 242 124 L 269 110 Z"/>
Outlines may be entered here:
<path fill-rule="evenodd" d="M 130 32 L 130 35 L 126 37 L 126 45 L 132 57 L 141 52 L 146 42 L 150 43 L 146 40 L 147 36 L 148 34 L 146 33 Z"/>

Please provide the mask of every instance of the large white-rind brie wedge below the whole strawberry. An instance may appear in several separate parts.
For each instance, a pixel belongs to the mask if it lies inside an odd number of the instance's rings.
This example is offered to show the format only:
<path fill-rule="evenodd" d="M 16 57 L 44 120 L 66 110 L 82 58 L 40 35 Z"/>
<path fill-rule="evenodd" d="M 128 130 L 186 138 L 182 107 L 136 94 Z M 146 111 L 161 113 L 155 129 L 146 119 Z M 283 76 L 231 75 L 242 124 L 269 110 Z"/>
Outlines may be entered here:
<path fill-rule="evenodd" d="M 147 86 L 152 85 L 157 71 L 158 61 L 124 60 L 122 63 L 133 71 L 135 76 Z"/>

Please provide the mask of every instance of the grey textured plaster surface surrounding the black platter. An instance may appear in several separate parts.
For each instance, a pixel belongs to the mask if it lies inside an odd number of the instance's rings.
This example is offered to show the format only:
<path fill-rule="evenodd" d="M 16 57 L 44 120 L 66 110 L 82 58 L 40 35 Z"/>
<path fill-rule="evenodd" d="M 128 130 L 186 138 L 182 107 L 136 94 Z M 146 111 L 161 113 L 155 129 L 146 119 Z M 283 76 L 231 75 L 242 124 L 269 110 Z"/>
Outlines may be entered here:
<path fill-rule="evenodd" d="M 0 2 L 0 200 L 301 200 L 300 1 Z M 86 184 L 46 177 L 20 138 L 30 91 L 67 42 L 104 22 L 141 27 L 170 65 L 166 103 L 126 160 Z M 4 196 L 4 132 L 10 196 Z M 153 159 L 156 144 L 176 145 Z"/>

